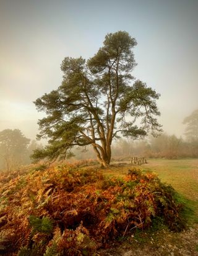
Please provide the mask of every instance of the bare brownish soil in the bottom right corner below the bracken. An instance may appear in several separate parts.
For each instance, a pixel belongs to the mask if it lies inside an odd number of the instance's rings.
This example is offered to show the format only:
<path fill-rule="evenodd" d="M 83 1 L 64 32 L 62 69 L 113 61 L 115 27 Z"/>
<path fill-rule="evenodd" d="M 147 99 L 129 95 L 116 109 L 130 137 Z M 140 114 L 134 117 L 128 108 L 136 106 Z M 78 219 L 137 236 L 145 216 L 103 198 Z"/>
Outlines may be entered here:
<path fill-rule="evenodd" d="M 130 237 L 126 242 L 111 244 L 111 249 L 100 250 L 103 256 L 197 256 L 198 225 L 187 231 L 174 233 L 162 229 L 155 234 L 143 234 Z"/>

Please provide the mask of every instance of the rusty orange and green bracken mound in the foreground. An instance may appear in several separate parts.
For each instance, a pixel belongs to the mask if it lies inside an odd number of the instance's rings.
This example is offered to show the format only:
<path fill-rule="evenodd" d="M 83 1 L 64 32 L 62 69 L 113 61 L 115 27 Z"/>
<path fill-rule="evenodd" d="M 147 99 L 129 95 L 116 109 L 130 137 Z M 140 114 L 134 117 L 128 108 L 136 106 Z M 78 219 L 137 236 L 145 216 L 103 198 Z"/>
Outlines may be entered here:
<path fill-rule="evenodd" d="M 105 178 L 70 165 L 0 176 L 1 255 L 95 255 L 113 239 L 185 227 L 183 203 L 153 173 Z"/>

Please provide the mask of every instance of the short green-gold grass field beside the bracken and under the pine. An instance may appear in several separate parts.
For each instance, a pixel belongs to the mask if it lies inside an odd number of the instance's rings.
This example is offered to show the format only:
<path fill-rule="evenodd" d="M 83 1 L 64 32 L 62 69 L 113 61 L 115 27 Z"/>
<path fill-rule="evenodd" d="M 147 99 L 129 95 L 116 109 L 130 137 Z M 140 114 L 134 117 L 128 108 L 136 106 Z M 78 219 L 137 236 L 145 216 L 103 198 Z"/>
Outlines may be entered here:
<path fill-rule="evenodd" d="M 136 166 L 137 167 L 137 166 Z M 128 163 L 113 163 L 106 175 L 122 176 L 132 165 Z M 184 198 L 184 202 L 194 211 L 189 212 L 192 222 L 198 222 L 198 159 L 149 159 L 141 165 L 143 171 L 154 171 L 161 181 L 170 184 Z"/>

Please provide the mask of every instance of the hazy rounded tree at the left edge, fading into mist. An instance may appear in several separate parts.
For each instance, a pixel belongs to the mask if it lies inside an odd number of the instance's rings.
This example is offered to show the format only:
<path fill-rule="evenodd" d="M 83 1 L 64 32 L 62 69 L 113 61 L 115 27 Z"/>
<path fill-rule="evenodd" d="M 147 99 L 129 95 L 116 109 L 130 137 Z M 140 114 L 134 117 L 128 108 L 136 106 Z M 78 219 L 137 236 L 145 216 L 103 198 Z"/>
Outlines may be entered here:
<path fill-rule="evenodd" d="M 19 129 L 6 129 L 0 132 L 0 160 L 10 170 L 13 165 L 21 163 L 27 158 L 27 139 Z"/>

